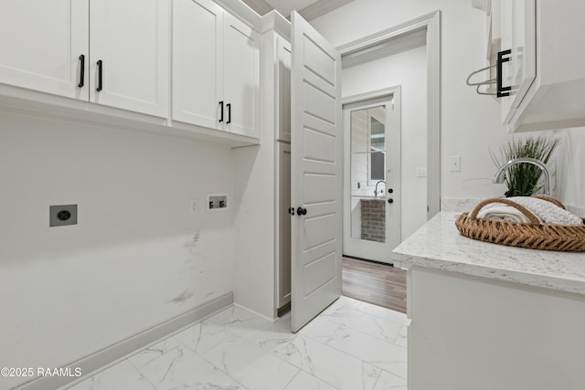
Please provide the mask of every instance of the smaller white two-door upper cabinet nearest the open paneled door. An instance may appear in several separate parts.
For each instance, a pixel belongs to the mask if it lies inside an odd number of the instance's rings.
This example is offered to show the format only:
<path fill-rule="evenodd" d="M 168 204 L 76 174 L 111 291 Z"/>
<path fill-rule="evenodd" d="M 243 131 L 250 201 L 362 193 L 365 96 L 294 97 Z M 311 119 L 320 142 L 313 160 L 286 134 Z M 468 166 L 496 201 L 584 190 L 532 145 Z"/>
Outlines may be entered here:
<path fill-rule="evenodd" d="M 175 0 L 173 120 L 258 138 L 260 36 L 210 0 Z"/>

